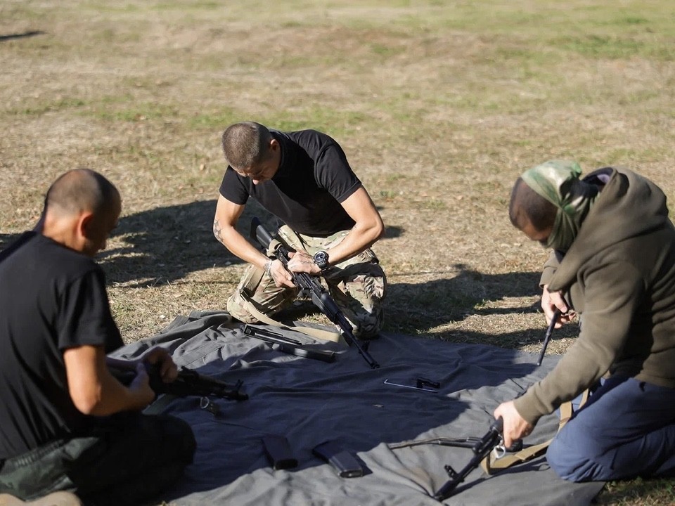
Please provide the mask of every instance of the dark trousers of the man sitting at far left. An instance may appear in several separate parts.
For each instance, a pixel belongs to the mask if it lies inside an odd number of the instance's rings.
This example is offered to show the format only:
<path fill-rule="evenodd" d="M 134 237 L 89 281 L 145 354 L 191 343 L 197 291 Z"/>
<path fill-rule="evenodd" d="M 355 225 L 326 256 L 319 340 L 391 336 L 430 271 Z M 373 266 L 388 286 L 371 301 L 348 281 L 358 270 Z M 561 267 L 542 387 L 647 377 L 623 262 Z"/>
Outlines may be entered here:
<path fill-rule="evenodd" d="M 0 493 L 33 500 L 70 491 L 86 505 L 136 505 L 174 484 L 194 452 L 192 429 L 183 420 L 119 413 L 102 418 L 88 436 L 7 459 Z"/>

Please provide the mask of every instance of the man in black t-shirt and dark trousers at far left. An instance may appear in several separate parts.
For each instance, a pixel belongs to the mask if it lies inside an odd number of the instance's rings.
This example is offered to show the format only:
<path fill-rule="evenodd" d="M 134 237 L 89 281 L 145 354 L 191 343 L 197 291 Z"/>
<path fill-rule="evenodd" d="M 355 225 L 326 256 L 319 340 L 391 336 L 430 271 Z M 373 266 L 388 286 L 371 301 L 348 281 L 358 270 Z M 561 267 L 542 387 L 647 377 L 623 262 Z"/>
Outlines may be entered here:
<path fill-rule="evenodd" d="M 120 210 L 108 179 L 69 171 L 49 188 L 36 230 L 0 252 L 0 503 L 71 491 L 135 504 L 192 460 L 185 422 L 141 415 L 155 398 L 143 364 L 128 387 L 106 365 L 122 338 L 93 257 Z M 175 380 L 166 350 L 146 358 Z M 60 494 L 54 504 L 79 503 Z"/>

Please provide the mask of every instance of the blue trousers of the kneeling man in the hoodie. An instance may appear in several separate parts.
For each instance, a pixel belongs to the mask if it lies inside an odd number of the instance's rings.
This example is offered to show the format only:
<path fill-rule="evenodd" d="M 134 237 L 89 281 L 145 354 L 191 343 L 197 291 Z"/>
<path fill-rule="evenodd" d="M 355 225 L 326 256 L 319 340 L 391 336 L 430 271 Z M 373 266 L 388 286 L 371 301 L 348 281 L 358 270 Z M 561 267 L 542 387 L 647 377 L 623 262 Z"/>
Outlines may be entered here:
<path fill-rule="evenodd" d="M 569 481 L 672 476 L 675 389 L 611 377 L 555 436 L 546 459 Z"/>

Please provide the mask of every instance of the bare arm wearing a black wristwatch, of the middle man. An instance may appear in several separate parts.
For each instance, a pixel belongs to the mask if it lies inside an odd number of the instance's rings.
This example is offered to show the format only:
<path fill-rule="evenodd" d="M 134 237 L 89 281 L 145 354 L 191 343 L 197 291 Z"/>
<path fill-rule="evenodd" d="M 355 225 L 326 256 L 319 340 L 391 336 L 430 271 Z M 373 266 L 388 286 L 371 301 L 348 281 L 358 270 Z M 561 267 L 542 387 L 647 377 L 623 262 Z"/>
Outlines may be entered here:
<path fill-rule="evenodd" d="M 342 207 L 356 223 L 347 237 L 328 251 L 330 264 L 338 264 L 340 261 L 361 253 L 380 239 L 385 231 L 382 217 L 365 188 L 361 187 L 349 195 L 347 200 L 342 202 Z M 311 261 L 311 257 L 303 252 L 293 255 L 293 259 L 288 262 L 288 268 L 296 272 L 319 273 L 320 271 L 319 267 Z"/>

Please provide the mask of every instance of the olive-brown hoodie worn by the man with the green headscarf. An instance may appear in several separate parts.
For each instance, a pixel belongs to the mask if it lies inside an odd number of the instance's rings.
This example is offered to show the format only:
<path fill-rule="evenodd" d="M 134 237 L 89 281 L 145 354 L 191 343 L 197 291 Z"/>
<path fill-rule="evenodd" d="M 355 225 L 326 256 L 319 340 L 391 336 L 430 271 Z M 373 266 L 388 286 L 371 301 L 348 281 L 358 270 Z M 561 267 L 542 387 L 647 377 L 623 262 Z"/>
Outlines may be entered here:
<path fill-rule="evenodd" d="M 530 423 L 605 373 L 675 388 L 675 228 L 666 197 L 628 169 L 610 175 L 564 254 L 553 252 L 541 285 L 562 291 L 580 333 L 543 380 L 515 400 Z"/>

